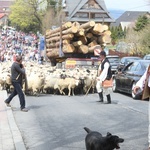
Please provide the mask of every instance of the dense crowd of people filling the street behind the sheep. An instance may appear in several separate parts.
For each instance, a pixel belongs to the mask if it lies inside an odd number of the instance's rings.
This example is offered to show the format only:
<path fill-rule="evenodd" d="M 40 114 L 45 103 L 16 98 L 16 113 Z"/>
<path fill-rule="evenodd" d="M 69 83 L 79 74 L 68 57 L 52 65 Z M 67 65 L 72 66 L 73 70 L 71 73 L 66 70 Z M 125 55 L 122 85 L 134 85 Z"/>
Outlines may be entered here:
<path fill-rule="evenodd" d="M 21 55 L 24 61 L 39 61 L 40 36 L 33 33 L 0 29 L 0 62 L 13 61 Z"/>

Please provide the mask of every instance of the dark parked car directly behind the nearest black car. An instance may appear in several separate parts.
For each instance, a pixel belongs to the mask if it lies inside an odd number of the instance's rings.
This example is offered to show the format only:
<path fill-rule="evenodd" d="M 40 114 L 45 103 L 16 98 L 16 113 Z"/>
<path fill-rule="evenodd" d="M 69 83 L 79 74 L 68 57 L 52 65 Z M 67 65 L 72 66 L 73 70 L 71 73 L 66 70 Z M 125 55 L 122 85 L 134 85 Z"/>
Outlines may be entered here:
<path fill-rule="evenodd" d="M 122 57 L 121 60 L 120 60 L 120 63 L 117 67 L 118 71 L 121 71 L 125 66 L 127 66 L 130 62 L 133 62 L 135 60 L 141 60 L 142 58 L 140 57 L 131 57 L 131 56 L 128 56 L 128 57 Z"/>

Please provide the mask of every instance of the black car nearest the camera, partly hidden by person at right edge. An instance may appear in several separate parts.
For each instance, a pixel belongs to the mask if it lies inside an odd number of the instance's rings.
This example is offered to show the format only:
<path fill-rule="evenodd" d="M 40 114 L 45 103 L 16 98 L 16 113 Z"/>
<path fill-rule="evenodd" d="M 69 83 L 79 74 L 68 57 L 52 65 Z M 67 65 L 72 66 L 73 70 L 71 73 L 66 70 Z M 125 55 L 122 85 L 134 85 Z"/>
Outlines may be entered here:
<path fill-rule="evenodd" d="M 113 75 L 113 92 L 128 93 L 134 99 L 141 98 L 141 95 L 135 95 L 132 89 L 144 74 L 148 65 L 150 65 L 150 60 L 136 60 L 129 63 L 121 72 Z"/>

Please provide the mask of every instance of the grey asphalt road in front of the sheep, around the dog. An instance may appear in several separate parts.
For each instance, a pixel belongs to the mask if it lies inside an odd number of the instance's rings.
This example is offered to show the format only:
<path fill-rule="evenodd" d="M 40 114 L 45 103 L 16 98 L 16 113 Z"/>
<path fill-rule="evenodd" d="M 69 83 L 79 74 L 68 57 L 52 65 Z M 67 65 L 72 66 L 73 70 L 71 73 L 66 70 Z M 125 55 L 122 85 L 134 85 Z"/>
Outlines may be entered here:
<path fill-rule="evenodd" d="M 98 95 L 26 96 L 29 112 L 21 112 L 18 97 L 13 113 L 27 150 L 85 150 L 85 126 L 124 138 L 121 150 L 148 149 L 148 101 L 112 93 L 112 104 L 96 102 Z"/>

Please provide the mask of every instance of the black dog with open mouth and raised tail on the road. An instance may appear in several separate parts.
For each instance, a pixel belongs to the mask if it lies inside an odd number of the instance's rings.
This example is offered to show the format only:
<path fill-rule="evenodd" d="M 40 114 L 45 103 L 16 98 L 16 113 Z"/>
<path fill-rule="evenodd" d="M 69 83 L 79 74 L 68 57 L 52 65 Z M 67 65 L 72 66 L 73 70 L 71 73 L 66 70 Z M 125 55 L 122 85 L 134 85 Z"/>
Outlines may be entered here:
<path fill-rule="evenodd" d="M 88 133 L 85 138 L 86 150 L 114 150 L 120 149 L 119 143 L 124 142 L 124 139 L 119 138 L 116 135 L 107 133 L 103 137 L 99 132 L 91 131 L 87 127 L 84 127 L 85 131 Z"/>

